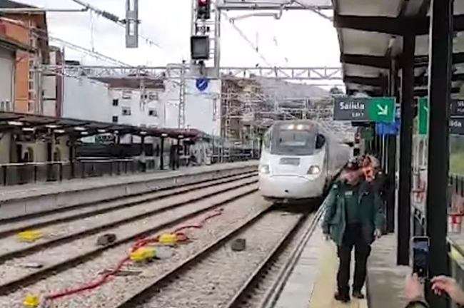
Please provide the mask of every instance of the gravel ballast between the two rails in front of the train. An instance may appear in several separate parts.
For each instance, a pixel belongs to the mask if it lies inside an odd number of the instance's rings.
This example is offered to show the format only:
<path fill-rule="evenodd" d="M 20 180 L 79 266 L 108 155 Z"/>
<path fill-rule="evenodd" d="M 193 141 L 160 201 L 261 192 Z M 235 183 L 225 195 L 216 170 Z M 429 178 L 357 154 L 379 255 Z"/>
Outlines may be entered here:
<path fill-rule="evenodd" d="M 221 307 L 238 292 L 299 217 L 269 212 L 237 236 L 246 239 L 246 250 L 233 252 L 228 242 L 139 307 Z"/>

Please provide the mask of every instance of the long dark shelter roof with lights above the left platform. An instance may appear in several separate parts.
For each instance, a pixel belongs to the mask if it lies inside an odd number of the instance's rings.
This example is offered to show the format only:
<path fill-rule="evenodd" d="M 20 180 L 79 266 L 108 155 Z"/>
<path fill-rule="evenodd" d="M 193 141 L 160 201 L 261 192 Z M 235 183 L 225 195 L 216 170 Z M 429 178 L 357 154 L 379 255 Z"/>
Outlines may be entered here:
<path fill-rule="evenodd" d="M 76 138 L 102 133 L 146 135 L 151 137 L 178 139 L 208 138 L 208 135 L 196 129 L 143 128 L 133 125 L 104 123 L 92 120 L 0 112 L 0 132 L 6 131 L 14 131 L 24 135 L 28 133 L 53 132 L 55 135 L 71 135 Z"/>

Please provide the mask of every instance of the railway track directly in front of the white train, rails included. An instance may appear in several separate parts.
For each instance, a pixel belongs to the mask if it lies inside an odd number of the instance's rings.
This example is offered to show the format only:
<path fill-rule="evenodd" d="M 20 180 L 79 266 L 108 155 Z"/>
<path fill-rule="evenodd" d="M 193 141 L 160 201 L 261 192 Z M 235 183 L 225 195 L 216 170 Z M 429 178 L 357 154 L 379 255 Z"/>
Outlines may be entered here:
<path fill-rule="evenodd" d="M 178 267 L 110 307 L 232 308 L 273 303 L 278 296 L 274 290 L 285 282 L 292 262 L 311 237 L 319 217 L 321 211 L 312 215 L 286 215 L 268 209 L 258 212 Z M 248 239 L 248 252 L 231 252 L 228 244 L 237 237 Z M 274 277 L 269 281 L 271 275 Z M 263 282 L 270 289 L 260 288 Z M 259 306 L 255 306 L 257 302 Z"/>

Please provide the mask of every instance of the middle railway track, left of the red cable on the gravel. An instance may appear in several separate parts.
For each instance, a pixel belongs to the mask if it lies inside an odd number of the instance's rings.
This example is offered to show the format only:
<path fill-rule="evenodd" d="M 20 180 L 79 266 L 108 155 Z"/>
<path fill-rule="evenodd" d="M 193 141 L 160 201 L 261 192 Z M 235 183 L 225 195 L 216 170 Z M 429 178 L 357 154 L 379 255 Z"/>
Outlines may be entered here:
<path fill-rule="evenodd" d="M 256 191 L 255 183 L 256 179 L 252 175 L 243 175 L 227 180 L 211 181 L 207 184 L 208 188 L 204 185 L 192 185 L 195 188 L 184 188 L 188 193 L 169 193 L 168 196 L 163 197 L 161 205 L 153 207 L 148 202 L 143 212 L 134 213 L 135 207 L 123 208 L 126 217 L 120 220 L 109 220 L 96 227 L 84 228 L 78 232 L 6 252 L 0 257 L 3 262 L 0 265 L 0 295 L 39 282 L 41 279 L 99 257 L 106 251 L 121 249 L 121 246 L 140 237 L 152 235 L 250 195 Z M 201 190 L 201 193 L 198 193 L 198 190 Z M 158 199 L 159 196 L 156 197 L 156 200 Z M 76 222 L 78 223 L 79 221 Z M 96 237 L 91 235 L 99 235 L 103 231 L 114 232 L 118 235 L 118 239 L 111 245 L 96 247 Z M 123 249 L 126 250 L 126 247 Z M 31 262 L 44 262 L 44 266 L 39 269 L 21 267 Z"/>

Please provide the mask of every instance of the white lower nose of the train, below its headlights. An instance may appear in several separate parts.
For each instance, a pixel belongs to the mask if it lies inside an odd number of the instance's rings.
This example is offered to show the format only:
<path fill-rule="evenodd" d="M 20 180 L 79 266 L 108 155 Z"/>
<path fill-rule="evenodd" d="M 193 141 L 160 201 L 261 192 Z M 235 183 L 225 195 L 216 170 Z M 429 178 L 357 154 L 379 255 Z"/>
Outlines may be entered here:
<path fill-rule="evenodd" d="M 323 176 L 303 177 L 298 175 L 261 175 L 259 189 L 265 197 L 308 198 L 323 194 Z"/>

